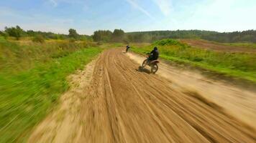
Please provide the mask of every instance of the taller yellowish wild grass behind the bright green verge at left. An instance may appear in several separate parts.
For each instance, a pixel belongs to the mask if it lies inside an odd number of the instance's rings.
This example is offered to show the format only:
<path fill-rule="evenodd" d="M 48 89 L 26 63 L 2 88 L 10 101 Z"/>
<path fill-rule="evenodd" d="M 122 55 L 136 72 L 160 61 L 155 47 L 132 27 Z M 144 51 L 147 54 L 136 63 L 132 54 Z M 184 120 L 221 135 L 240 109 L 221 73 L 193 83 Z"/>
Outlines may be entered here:
<path fill-rule="evenodd" d="M 66 56 L 88 46 L 86 42 L 70 43 L 68 41 L 45 42 L 44 44 L 28 42 L 17 44 L 0 39 L 0 71 L 19 72 L 31 69 L 37 63 L 47 62 Z"/>

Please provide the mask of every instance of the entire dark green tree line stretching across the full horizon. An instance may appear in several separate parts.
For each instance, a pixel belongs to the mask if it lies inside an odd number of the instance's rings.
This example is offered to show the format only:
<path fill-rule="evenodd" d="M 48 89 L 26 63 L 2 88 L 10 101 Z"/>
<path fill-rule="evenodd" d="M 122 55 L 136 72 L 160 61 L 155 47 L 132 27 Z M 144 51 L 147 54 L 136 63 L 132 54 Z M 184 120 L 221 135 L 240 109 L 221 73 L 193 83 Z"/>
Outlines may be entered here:
<path fill-rule="evenodd" d="M 234 32 L 216 32 L 202 30 L 177 30 L 177 31 L 139 31 L 124 32 L 122 29 L 98 30 L 93 35 L 78 34 L 76 29 L 69 29 L 69 34 L 55 34 L 44 31 L 24 31 L 21 27 L 5 27 L 4 31 L 0 31 L 0 35 L 4 37 L 13 36 L 17 40 L 21 37 L 32 36 L 41 39 L 73 39 L 75 40 L 93 40 L 102 42 L 152 42 L 160 39 L 206 39 L 209 41 L 218 41 L 223 43 L 232 42 L 254 42 L 256 43 L 256 31 L 234 31 Z"/>

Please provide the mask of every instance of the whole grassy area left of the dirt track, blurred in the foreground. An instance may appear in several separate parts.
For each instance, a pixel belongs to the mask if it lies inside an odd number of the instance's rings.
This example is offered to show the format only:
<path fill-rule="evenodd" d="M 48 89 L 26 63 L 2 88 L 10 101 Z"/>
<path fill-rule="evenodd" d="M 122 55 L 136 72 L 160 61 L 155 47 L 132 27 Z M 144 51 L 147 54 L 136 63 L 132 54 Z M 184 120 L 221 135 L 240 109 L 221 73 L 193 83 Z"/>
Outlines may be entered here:
<path fill-rule="evenodd" d="M 0 41 L 0 142 L 25 142 L 68 89 L 66 77 L 103 50 L 67 44 Z"/>

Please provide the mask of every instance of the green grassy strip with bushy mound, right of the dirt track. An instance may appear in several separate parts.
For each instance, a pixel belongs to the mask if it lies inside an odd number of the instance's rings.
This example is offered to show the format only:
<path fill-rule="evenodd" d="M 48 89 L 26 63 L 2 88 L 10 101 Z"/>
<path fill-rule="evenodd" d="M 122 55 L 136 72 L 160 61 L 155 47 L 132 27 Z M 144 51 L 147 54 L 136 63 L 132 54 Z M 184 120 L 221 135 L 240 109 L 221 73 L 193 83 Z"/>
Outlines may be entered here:
<path fill-rule="evenodd" d="M 206 49 L 192 48 L 173 39 L 156 41 L 150 46 L 133 46 L 132 51 L 145 54 L 158 46 L 160 57 L 179 64 L 188 64 L 201 69 L 224 74 L 227 77 L 245 79 L 256 83 L 256 55 L 231 54 Z"/>

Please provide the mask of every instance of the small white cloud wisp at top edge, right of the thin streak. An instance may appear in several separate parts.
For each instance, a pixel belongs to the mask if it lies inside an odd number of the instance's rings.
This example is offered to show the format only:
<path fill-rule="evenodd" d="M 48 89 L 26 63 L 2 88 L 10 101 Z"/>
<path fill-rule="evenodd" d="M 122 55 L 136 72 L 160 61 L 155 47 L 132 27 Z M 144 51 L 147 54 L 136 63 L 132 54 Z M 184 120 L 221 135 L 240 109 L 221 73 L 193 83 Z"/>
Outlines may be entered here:
<path fill-rule="evenodd" d="M 159 9 L 162 11 L 162 13 L 165 16 L 168 16 L 170 14 L 171 7 L 172 7 L 172 1 L 170 1 L 170 0 L 152 0 L 152 1 L 154 1 L 155 4 L 157 4 Z"/>

